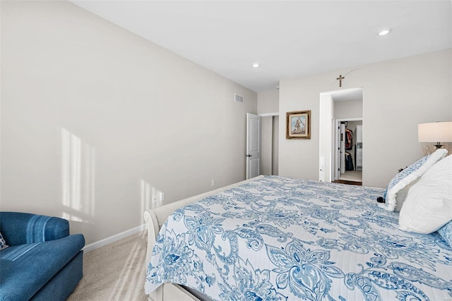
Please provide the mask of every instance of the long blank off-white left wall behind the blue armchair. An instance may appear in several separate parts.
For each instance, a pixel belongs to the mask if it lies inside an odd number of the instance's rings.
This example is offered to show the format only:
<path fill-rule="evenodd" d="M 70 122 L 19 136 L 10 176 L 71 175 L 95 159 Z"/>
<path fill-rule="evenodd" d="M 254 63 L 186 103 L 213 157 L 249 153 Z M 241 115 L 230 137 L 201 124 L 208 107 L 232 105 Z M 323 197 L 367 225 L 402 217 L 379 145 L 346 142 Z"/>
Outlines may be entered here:
<path fill-rule="evenodd" d="M 139 226 L 157 192 L 245 178 L 256 102 L 69 2 L 1 1 L 1 210 L 64 216 L 87 243 Z"/>

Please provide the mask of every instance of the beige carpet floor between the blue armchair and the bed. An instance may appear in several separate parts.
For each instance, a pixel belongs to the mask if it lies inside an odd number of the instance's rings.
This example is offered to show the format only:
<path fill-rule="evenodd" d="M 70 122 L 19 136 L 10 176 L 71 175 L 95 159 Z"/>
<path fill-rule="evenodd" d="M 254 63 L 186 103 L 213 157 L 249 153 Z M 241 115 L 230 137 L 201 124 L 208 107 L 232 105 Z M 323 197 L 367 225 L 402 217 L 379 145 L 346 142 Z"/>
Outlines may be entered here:
<path fill-rule="evenodd" d="M 83 278 L 68 301 L 147 300 L 144 294 L 147 232 L 83 254 Z"/>

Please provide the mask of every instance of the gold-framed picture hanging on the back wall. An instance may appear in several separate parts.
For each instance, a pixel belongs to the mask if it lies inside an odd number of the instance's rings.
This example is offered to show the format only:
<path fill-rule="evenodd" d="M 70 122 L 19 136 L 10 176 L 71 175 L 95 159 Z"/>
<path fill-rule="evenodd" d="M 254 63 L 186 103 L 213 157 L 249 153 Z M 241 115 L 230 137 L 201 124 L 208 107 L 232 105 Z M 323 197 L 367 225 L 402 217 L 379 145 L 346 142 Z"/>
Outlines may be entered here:
<path fill-rule="evenodd" d="M 286 113 L 286 139 L 311 139 L 311 110 Z"/>

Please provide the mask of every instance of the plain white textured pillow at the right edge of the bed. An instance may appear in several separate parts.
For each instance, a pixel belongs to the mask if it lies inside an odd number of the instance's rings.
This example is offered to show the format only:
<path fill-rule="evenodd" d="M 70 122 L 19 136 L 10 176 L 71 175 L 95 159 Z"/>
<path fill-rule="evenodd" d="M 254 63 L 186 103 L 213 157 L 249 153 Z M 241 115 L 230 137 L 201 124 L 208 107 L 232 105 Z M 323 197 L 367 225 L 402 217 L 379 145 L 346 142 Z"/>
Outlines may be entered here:
<path fill-rule="evenodd" d="M 452 220 L 452 156 L 437 162 L 408 190 L 400 230 L 432 233 Z"/>

